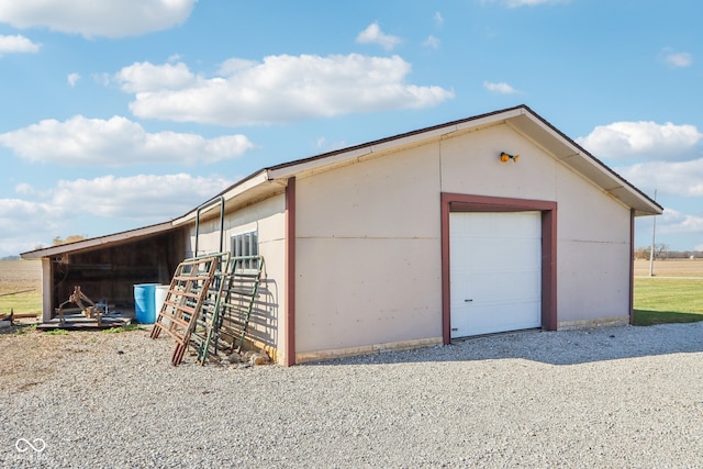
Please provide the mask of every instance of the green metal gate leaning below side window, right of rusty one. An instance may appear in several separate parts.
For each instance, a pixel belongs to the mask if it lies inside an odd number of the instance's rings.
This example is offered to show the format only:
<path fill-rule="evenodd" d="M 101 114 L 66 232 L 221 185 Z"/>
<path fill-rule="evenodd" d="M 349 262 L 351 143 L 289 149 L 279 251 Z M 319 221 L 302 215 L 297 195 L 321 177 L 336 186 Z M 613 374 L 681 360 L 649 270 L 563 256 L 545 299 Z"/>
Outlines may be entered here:
<path fill-rule="evenodd" d="M 191 336 L 192 345 L 198 351 L 198 362 L 204 365 L 208 357 L 219 360 L 219 351 L 242 351 L 263 271 L 265 264 L 261 256 L 230 259 L 216 308 L 212 314 L 203 310 Z"/>

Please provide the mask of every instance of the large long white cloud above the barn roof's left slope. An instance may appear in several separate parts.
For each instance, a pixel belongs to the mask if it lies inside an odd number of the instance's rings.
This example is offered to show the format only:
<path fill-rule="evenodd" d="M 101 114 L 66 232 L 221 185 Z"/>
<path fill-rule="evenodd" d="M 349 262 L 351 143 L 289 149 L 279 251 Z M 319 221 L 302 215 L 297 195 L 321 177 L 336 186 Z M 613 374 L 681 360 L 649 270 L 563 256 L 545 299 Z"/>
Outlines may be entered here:
<path fill-rule="evenodd" d="M 113 78 L 135 92 L 130 109 L 140 118 L 231 126 L 422 109 L 454 98 L 440 87 L 405 83 L 410 70 L 399 56 L 278 55 L 263 63 L 226 60 L 214 78 L 183 64 L 148 63 Z"/>

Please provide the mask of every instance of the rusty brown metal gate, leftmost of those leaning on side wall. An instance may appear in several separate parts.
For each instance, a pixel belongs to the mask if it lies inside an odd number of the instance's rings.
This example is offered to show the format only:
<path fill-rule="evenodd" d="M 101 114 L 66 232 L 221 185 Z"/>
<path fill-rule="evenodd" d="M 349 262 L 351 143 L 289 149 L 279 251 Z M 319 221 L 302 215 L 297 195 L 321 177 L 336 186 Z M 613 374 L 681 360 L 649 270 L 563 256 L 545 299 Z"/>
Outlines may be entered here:
<path fill-rule="evenodd" d="M 171 365 L 178 366 L 203 311 L 216 311 L 228 253 L 186 259 L 178 265 L 154 327 L 152 338 L 165 331 L 176 340 Z"/>

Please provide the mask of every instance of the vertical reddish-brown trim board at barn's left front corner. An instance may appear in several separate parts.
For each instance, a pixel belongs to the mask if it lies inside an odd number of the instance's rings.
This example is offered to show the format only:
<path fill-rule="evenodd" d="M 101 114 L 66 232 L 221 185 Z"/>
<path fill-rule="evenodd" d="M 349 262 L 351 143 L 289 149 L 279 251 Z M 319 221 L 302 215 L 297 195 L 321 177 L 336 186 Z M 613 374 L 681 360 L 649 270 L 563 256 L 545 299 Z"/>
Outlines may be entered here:
<path fill-rule="evenodd" d="M 295 178 L 286 186 L 286 357 L 295 365 Z"/>

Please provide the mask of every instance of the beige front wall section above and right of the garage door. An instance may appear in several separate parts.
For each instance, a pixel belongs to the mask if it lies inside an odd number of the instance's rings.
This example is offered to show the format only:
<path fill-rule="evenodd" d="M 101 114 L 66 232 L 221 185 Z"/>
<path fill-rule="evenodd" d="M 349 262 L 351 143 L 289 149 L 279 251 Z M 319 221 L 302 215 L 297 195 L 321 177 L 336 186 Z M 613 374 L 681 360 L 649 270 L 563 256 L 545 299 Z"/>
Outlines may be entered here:
<path fill-rule="evenodd" d="M 500 152 L 520 154 L 501 163 Z M 627 322 L 629 209 L 506 125 L 447 139 L 443 191 L 556 201 L 558 327 Z"/>

